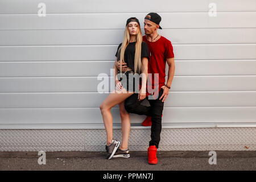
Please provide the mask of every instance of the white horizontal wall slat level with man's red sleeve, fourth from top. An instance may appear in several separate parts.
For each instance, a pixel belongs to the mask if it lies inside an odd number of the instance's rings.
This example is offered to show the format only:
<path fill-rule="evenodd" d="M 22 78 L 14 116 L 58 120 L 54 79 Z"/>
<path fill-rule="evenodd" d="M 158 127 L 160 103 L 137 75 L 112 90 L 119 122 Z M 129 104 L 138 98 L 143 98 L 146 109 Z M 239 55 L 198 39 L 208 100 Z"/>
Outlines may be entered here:
<path fill-rule="evenodd" d="M 255 59 L 256 44 L 179 44 L 176 60 Z M 2 46 L 0 61 L 114 60 L 117 46 Z"/>

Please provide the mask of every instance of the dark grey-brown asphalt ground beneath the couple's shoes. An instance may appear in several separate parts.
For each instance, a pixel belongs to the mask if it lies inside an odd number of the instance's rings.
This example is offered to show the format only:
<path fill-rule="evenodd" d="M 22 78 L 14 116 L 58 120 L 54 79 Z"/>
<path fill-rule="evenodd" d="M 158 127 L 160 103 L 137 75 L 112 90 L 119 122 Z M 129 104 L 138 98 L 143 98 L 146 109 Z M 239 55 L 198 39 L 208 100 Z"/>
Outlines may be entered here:
<path fill-rule="evenodd" d="M 253 170 L 256 151 L 216 151 L 217 164 L 209 164 L 209 151 L 158 151 L 158 164 L 147 163 L 147 151 L 131 151 L 130 158 L 105 159 L 105 152 L 46 152 L 39 165 L 38 152 L 0 152 L 0 170 Z"/>

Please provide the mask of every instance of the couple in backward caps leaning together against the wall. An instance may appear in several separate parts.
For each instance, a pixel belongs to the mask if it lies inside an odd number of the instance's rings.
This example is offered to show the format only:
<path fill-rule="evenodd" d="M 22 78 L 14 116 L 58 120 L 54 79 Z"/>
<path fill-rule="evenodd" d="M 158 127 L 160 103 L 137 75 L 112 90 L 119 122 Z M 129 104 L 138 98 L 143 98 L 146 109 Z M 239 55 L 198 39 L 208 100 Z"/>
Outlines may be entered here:
<path fill-rule="evenodd" d="M 162 29 L 159 26 L 160 21 L 161 17 L 158 14 L 147 14 L 144 18 L 146 35 L 142 36 L 139 20 L 135 17 L 127 19 L 123 42 L 119 44 L 115 54 L 115 90 L 100 105 L 107 135 L 107 159 L 130 157 L 128 148 L 129 113 L 135 113 L 147 115 L 142 125 L 151 126 L 148 163 L 158 163 L 156 151 L 162 130 L 164 101 L 168 96 L 175 72 L 172 44 L 170 40 L 160 36 L 157 32 L 158 28 Z M 120 60 L 123 61 L 120 63 Z M 168 80 L 165 84 L 166 62 L 169 69 Z M 142 81 L 135 75 L 142 76 Z M 150 106 L 141 105 L 145 98 L 150 102 Z M 110 109 L 117 104 L 122 121 L 121 144 L 118 140 L 113 139 L 113 118 L 110 112 Z"/>

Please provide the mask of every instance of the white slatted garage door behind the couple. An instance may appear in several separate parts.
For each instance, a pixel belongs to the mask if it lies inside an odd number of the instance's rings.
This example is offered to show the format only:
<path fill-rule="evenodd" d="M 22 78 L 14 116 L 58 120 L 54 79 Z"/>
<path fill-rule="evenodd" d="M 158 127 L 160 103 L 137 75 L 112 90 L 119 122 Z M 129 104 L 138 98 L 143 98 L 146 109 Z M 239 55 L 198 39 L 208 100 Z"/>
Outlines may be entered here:
<path fill-rule="evenodd" d="M 1 0 L 0 129 L 104 128 L 97 76 L 110 76 L 126 19 L 150 12 L 175 54 L 163 127 L 255 127 L 256 1 Z"/>

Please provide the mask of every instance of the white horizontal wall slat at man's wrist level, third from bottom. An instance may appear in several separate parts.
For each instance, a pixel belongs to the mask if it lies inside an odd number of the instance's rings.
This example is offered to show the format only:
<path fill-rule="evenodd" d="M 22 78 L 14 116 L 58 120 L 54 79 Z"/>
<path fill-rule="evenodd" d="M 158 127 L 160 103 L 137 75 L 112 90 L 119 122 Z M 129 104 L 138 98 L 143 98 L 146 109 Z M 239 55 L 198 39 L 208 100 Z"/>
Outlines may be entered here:
<path fill-rule="evenodd" d="M 109 82 L 109 89 L 106 92 L 110 92 L 110 84 L 114 84 L 114 78 L 104 77 L 104 79 Z M 0 94 L 21 92 L 97 93 L 97 86 L 101 82 L 102 80 L 97 80 L 97 77 L 3 77 L 0 78 Z M 256 82 L 256 76 L 174 76 L 170 93 L 225 91 L 228 94 L 232 94 L 232 92 L 250 92 L 250 90 L 254 90 L 251 92 L 255 92 L 256 84 L 251 84 L 252 82 Z"/>

